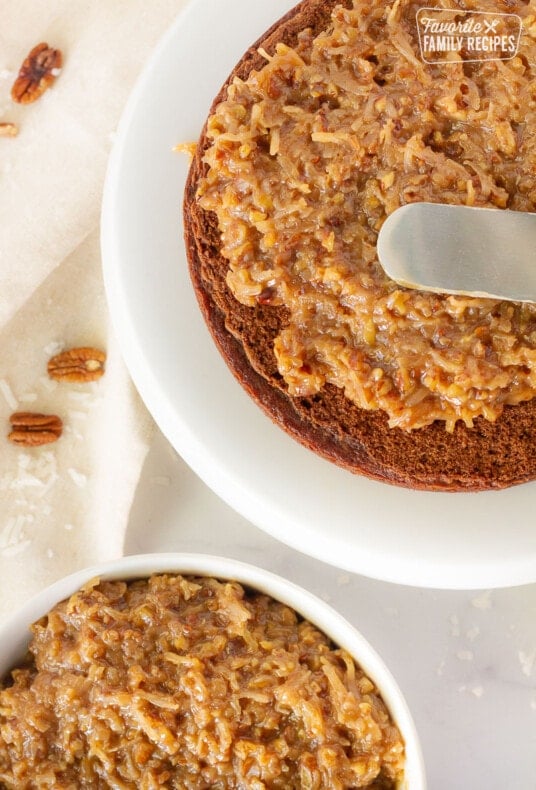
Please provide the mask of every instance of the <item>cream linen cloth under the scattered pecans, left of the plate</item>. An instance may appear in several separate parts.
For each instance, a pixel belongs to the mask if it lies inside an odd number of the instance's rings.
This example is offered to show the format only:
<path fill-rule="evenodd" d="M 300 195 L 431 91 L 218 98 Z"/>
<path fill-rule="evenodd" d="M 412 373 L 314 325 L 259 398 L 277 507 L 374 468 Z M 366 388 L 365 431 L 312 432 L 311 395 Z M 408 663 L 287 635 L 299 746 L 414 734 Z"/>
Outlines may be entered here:
<path fill-rule="evenodd" d="M 104 297 L 99 215 L 128 95 L 187 0 L 4 0 L 0 25 L 0 621 L 43 586 L 120 556 L 152 423 L 121 359 Z M 10 91 L 28 52 L 63 53 L 35 103 Z M 107 353 L 98 382 L 51 381 L 51 355 Z M 54 444 L 7 441 L 15 411 L 57 414 Z"/>

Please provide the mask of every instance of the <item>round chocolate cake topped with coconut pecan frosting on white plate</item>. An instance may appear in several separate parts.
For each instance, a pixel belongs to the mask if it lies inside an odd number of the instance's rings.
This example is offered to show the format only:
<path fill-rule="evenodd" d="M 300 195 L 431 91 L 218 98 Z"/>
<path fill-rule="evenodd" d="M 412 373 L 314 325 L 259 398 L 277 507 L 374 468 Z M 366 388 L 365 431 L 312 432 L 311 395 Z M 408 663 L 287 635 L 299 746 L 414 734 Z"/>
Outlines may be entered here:
<path fill-rule="evenodd" d="M 234 375 L 311 451 L 395 485 L 499 489 L 536 477 L 536 308 L 401 288 L 374 241 L 410 201 L 534 210 L 535 45 L 428 65 L 418 9 L 304 0 L 245 53 L 186 184 L 191 278 Z"/>

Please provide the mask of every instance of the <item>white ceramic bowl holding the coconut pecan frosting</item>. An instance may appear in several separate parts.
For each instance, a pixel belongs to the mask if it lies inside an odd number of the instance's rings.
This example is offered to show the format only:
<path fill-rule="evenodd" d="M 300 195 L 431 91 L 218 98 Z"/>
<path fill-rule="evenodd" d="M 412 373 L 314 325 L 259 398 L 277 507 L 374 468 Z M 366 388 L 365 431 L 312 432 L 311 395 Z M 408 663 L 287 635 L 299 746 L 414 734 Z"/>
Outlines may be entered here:
<path fill-rule="evenodd" d="M 0 675 L 5 675 L 24 655 L 29 625 L 89 579 L 95 576 L 133 579 L 159 572 L 238 581 L 292 607 L 347 650 L 377 685 L 404 738 L 406 777 L 401 790 L 426 789 L 424 762 L 415 725 L 402 692 L 379 655 L 350 623 L 322 600 L 286 579 L 237 560 L 205 554 L 145 554 L 123 557 L 66 576 L 25 604 L 0 629 Z"/>

